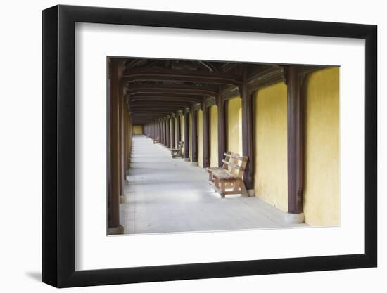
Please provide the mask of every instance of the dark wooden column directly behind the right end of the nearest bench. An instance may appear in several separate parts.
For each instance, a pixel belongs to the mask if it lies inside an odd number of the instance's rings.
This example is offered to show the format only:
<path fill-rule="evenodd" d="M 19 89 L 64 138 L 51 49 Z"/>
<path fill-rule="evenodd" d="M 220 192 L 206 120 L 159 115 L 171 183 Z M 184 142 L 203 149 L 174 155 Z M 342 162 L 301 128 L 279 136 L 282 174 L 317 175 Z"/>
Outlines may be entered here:
<path fill-rule="evenodd" d="M 246 70 L 243 72 L 243 83 L 239 86 L 242 99 L 242 148 L 243 156 L 248 157 L 243 181 L 250 196 L 254 195 L 254 149 L 253 149 L 253 99 L 247 89 Z"/>

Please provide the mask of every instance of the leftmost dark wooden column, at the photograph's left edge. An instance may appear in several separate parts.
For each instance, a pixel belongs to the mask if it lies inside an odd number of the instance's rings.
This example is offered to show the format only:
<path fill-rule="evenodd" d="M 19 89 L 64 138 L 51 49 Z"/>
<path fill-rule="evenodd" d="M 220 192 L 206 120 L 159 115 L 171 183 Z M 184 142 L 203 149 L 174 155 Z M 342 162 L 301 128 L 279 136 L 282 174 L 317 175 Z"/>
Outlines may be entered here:
<path fill-rule="evenodd" d="M 108 233 L 120 233 L 120 83 L 118 60 L 109 66 Z M 123 229 L 122 229 L 123 232 Z"/>

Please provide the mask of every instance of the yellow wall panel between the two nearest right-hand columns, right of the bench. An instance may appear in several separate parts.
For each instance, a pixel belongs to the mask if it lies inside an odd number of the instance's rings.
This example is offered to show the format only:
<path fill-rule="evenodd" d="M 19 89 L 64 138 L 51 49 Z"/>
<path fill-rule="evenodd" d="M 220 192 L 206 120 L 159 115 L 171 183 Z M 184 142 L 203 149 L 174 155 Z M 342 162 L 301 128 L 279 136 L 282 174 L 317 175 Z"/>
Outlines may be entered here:
<path fill-rule="evenodd" d="M 288 211 L 287 86 L 284 82 L 257 91 L 255 108 L 255 195 Z"/>

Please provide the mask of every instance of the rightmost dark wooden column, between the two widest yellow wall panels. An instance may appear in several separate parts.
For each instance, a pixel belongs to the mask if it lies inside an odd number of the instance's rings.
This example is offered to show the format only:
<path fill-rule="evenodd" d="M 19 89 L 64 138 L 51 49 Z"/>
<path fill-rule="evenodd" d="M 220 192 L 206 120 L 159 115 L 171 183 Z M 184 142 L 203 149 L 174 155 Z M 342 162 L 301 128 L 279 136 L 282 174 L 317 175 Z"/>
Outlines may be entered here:
<path fill-rule="evenodd" d="M 288 85 L 288 213 L 303 213 L 303 94 L 298 67 L 285 70 Z"/>

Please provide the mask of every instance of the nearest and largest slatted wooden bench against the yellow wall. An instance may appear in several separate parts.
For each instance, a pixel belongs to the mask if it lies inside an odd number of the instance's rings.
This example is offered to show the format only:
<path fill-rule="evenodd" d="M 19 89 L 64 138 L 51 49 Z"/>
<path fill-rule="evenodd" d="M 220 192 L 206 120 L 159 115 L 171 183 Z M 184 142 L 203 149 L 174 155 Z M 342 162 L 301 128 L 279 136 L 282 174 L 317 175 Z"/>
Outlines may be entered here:
<path fill-rule="evenodd" d="M 239 154 L 225 153 L 222 159 L 223 166 L 220 169 L 212 169 L 212 180 L 215 191 L 224 198 L 226 195 L 241 194 L 248 196 L 243 174 L 246 169 L 248 157 L 240 157 Z M 228 159 L 227 159 L 228 158 Z M 224 168 L 227 165 L 227 169 Z"/>

